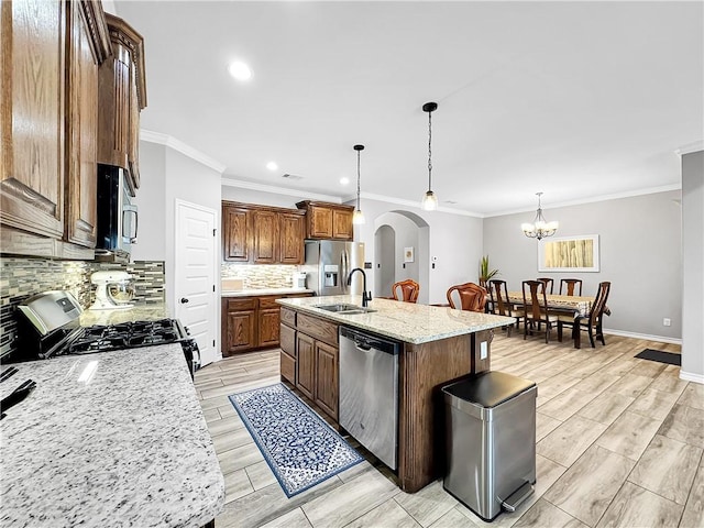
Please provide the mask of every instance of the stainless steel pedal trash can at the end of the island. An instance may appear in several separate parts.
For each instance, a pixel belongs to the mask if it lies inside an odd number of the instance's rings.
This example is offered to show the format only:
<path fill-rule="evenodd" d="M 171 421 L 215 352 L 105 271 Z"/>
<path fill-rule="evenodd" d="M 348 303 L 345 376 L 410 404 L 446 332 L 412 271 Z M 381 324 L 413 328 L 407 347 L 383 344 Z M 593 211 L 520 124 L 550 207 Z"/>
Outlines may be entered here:
<path fill-rule="evenodd" d="M 484 372 L 442 392 L 444 490 L 484 520 L 515 510 L 536 483 L 536 384 Z"/>

